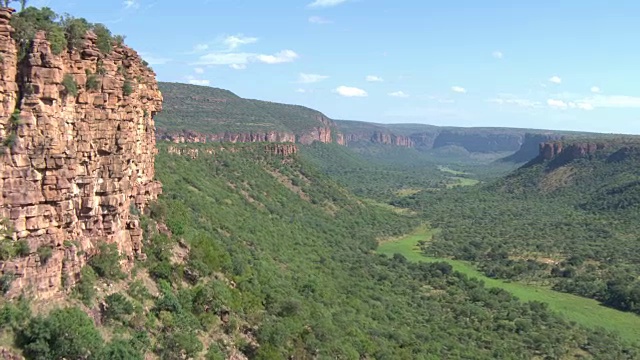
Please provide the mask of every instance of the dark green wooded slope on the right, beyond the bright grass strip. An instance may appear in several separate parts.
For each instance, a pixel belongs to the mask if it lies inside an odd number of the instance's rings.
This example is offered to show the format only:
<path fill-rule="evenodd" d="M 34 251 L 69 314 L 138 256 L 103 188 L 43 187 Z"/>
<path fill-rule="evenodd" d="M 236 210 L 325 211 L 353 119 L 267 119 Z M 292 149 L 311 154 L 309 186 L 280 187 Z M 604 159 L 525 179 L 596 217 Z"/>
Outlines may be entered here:
<path fill-rule="evenodd" d="M 491 185 L 396 201 L 442 231 L 425 251 L 640 313 L 640 151 L 609 143 L 534 161 Z"/>

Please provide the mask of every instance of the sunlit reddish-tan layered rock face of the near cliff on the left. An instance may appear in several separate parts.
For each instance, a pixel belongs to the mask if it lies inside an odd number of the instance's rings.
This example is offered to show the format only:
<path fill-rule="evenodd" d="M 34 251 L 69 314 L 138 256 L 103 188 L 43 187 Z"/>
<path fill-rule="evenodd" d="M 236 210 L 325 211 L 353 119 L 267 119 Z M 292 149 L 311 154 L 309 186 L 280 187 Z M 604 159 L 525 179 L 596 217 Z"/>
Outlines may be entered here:
<path fill-rule="evenodd" d="M 0 155 L 0 216 L 31 254 L 0 262 L 0 273 L 15 276 L 7 296 L 46 299 L 63 279 L 75 283 L 102 242 L 117 245 L 125 268 L 140 253 L 130 211 L 161 192 L 153 116 L 162 95 L 135 51 L 102 54 L 91 33 L 81 48 L 55 55 L 41 32 L 19 62 L 10 17 L 0 9 L 0 136 L 14 139 Z M 70 78 L 77 93 L 63 85 Z M 46 263 L 40 247 L 52 249 Z"/>

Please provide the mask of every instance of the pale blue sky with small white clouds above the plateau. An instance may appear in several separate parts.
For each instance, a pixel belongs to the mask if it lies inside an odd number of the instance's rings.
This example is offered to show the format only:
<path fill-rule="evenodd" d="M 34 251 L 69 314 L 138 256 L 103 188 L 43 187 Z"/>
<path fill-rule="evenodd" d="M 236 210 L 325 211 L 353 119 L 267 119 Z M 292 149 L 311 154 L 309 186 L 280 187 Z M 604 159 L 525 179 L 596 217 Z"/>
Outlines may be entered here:
<path fill-rule="evenodd" d="M 334 119 L 640 134 L 640 2 L 32 0 L 107 24 L 162 81 Z"/>

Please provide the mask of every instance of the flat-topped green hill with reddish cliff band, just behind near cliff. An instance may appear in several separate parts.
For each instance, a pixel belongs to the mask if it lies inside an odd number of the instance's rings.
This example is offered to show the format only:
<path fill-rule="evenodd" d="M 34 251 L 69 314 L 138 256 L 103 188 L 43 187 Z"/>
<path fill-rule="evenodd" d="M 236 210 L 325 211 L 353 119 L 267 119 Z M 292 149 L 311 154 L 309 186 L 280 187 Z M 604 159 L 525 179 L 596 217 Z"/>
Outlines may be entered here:
<path fill-rule="evenodd" d="M 174 143 L 291 142 L 344 144 L 333 120 L 304 106 L 244 99 L 223 89 L 160 83 L 159 140 Z"/>

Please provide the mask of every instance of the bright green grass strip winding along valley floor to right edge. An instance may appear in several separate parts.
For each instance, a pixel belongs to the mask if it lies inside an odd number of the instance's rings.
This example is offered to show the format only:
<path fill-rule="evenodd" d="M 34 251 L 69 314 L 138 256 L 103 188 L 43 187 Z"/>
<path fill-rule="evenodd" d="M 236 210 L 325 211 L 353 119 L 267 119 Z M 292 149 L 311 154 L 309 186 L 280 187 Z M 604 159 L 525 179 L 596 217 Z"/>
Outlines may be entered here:
<path fill-rule="evenodd" d="M 475 269 L 467 262 L 434 258 L 423 255 L 417 246 L 419 241 L 429 241 L 437 229 L 426 226 L 418 228 L 413 233 L 394 241 L 386 241 L 378 247 L 378 253 L 393 255 L 399 253 L 410 261 L 446 261 L 453 268 L 469 277 L 484 281 L 487 287 L 498 287 L 509 291 L 521 301 L 540 301 L 547 303 L 549 309 L 562 314 L 566 319 L 590 328 L 604 328 L 615 332 L 621 338 L 638 342 L 640 339 L 640 316 L 602 306 L 598 301 L 571 294 L 553 291 L 536 285 L 518 282 L 506 282 L 492 279 Z"/>

